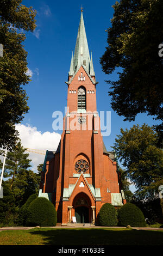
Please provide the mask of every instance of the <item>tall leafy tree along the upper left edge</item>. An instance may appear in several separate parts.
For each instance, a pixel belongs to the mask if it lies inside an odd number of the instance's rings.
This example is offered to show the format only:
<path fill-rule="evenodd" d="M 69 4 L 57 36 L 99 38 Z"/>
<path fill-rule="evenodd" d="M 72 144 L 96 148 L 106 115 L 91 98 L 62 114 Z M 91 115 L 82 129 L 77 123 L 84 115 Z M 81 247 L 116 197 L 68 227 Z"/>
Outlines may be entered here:
<path fill-rule="evenodd" d="M 0 148 L 14 147 L 20 123 L 28 112 L 26 90 L 28 84 L 27 52 L 22 42 L 26 36 L 22 31 L 33 32 L 36 11 L 21 4 L 21 0 L 0 0 Z M 22 29 L 20 31 L 20 29 Z"/>

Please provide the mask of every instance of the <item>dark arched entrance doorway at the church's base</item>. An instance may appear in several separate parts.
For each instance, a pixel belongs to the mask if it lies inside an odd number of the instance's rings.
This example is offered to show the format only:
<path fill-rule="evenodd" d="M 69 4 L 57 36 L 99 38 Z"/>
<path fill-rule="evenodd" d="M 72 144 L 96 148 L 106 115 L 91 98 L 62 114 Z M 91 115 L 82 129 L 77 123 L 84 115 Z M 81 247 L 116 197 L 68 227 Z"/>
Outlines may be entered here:
<path fill-rule="evenodd" d="M 89 208 L 80 206 L 75 209 L 77 223 L 89 223 Z"/>

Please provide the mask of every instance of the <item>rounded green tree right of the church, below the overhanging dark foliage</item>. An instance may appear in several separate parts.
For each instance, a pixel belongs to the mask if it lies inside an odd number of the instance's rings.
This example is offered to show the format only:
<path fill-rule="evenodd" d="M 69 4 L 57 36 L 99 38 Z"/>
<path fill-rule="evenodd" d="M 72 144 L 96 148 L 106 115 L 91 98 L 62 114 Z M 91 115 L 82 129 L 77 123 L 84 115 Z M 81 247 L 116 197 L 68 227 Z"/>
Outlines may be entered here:
<path fill-rule="evenodd" d="M 121 129 L 115 139 L 113 148 L 137 188 L 136 198 L 155 199 L 163 184 L 163 152 L 156 147 L 157 139 L 154 129 L 146 124 Z"/>

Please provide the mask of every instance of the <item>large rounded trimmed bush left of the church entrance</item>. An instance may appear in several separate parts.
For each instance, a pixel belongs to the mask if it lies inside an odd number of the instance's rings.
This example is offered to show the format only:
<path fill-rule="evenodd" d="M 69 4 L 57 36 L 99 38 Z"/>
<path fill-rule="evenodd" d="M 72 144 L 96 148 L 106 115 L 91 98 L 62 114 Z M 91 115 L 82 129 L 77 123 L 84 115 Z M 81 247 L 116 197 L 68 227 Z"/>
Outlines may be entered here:
<path fill-rule="evenodd" d="M 57 223 L 54 205 L 44 197 L 36 198 L 28 208 L 27 225 L 30 227 L 52 227 Z"/>

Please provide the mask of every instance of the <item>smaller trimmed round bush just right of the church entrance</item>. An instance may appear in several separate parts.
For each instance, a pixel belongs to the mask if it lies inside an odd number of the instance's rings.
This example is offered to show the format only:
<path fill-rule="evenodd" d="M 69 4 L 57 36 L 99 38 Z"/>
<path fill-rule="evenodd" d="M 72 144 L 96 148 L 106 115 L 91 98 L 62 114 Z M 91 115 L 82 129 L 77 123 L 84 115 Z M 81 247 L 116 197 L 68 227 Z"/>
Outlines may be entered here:
<path fill-rule="evenodd" d="M 99 211 L 99 224 L 113 227 L 117 225 L 117 211 L 112 204 L 106 203 Z"/>

